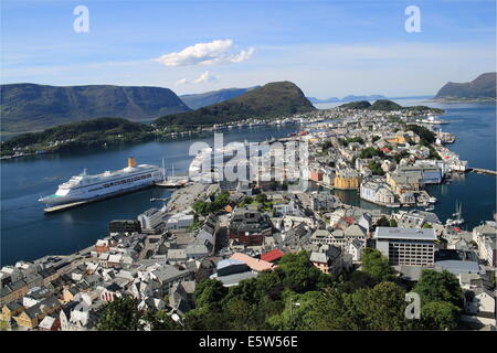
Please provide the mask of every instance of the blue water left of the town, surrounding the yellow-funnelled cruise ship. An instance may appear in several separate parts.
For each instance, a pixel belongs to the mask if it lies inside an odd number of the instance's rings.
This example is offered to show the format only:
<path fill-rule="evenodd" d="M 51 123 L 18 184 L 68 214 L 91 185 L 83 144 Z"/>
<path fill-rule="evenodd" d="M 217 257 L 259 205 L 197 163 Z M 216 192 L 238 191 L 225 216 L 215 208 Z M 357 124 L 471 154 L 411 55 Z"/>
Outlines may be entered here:
<path fill-rule="evenodd" d="M 295 126 L 254 127 L 228 130 L 224 143 L 231 141 L 262 141 L 284 137 L 295 131 Z M 201 139 L 209 145 L 213 137 Z M 186 174 L 192 157 L 192 140 L 148 142 L 118 149 L 68 154 L 46 154 L 8 160 L 1 168 L 1 265 L 17 260 L 32 260 L 44 255 L 65 255 L 91 246 L 107 235 L 112 220 L 136 218 L 145 210 L 161 206 L 151 197 L 167 197 L 165 189 L 148 189 L 116 199 L 88 204 L 61 213 L 44 214 L 40 195 L 54 193 L 57 185 L 84 168 L 88 173 L 117 170 L 126 167 L 127 158 L 134 156 L 138 163 L 160 165 Z"/>

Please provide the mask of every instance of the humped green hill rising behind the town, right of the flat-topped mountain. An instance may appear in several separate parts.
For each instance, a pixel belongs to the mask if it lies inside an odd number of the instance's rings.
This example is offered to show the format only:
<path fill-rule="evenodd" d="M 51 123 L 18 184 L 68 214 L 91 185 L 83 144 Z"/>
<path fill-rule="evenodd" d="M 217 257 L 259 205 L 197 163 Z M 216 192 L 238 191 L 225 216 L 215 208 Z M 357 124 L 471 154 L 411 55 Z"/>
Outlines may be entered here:
<path fill-rule="evenodd" d="M 255 117 L 276 118 L 315 109 L 300 88 L 285 81 L 266 84 L 235 98 L 193 111 L 168 115 L 157 119 L 155 124 L 193 128 Z"/>

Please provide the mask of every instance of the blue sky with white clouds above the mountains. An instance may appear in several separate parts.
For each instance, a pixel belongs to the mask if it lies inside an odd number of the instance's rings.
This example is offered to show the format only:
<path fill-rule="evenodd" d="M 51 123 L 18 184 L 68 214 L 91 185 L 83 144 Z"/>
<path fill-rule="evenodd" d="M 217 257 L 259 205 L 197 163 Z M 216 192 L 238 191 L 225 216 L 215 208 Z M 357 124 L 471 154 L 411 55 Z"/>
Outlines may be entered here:
<path fill-rule="evenodd" d="M 496 71 L 494 0 L 2 0 L 0 15 L 2 84 L 394 97 Z"/>

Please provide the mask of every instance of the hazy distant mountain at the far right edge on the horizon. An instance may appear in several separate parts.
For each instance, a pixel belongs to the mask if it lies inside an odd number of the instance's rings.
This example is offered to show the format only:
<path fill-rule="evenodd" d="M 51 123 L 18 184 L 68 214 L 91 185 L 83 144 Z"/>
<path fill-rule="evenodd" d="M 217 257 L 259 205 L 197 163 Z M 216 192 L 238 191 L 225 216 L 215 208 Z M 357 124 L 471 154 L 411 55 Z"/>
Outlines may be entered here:
<path fill-rule="evenodd" d="M 495 99 L 496 73 L 485 73 L 467 83 L 445 84 L 436 94 L 435 99 Z"/>

